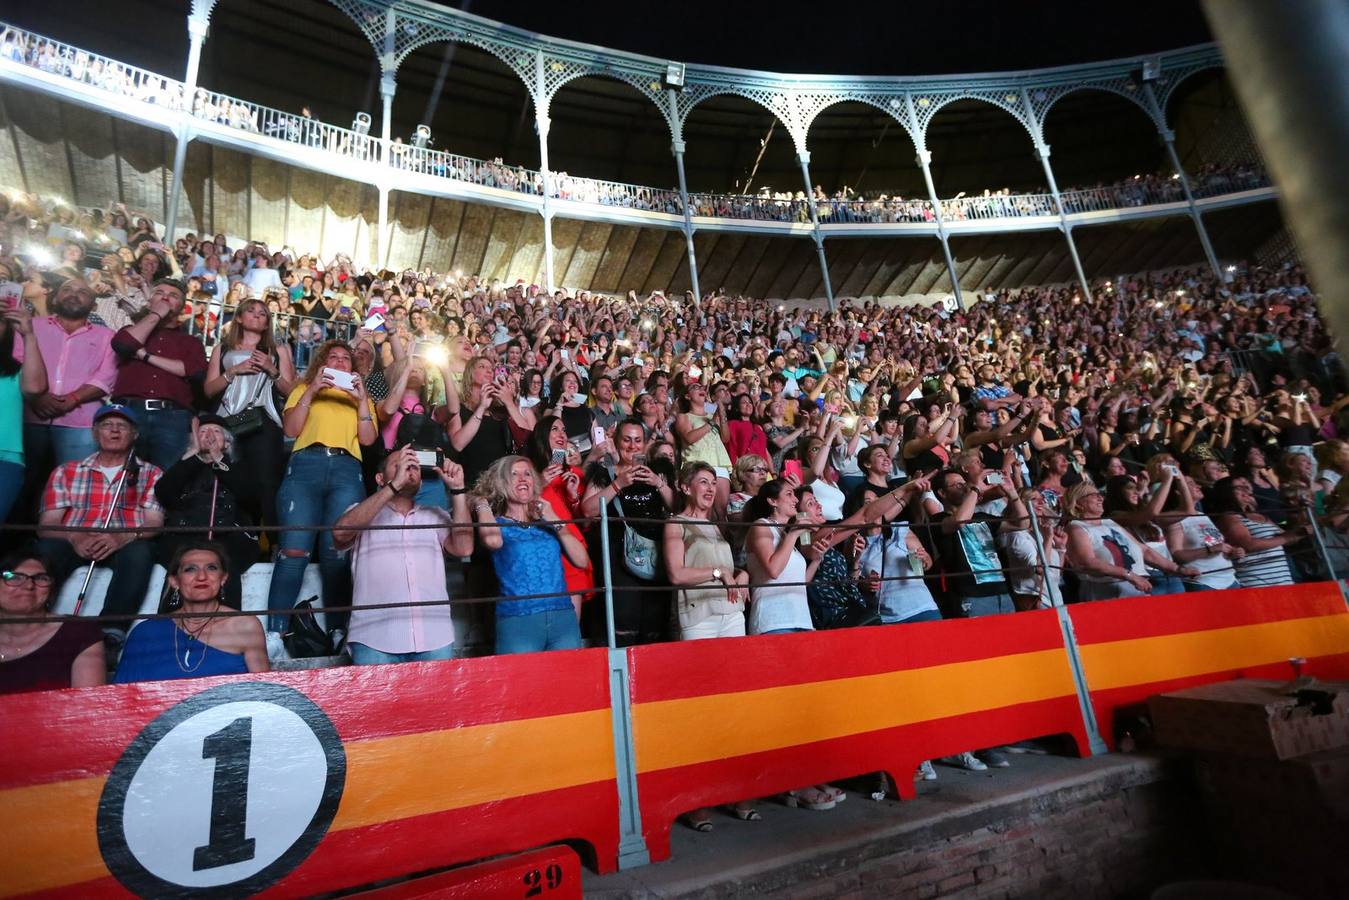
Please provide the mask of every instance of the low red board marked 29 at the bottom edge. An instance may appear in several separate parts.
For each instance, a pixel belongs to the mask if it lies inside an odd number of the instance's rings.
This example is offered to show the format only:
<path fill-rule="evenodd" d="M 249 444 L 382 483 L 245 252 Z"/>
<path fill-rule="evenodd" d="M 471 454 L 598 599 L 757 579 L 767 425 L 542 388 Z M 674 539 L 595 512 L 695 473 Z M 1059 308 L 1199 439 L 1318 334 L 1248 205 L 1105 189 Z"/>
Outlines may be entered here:
<path fill-rule="evenodd" d="M 581 862 L 568 847 L 542 847 L 348 896 L 360 900 L 581 900 Z"/>

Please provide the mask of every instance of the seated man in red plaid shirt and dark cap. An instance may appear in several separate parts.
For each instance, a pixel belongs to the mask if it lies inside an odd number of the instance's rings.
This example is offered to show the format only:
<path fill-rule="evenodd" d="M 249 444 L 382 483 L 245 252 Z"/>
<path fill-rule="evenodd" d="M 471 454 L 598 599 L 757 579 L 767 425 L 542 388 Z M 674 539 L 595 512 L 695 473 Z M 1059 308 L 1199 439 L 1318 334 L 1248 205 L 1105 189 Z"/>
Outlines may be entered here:
<path fill-rule="evenodd" d="M 112 567 L 112 583 L 104 599 L 108 615 L 136 613 L 150 584 L 154 567 L 152 534 L 134 532 L 55 532 L 54 526 L 101 529 L 112 510 L 111 529 L 156 529 L 165 513 L 155 499 L 155 482 L 163 472 L 151 463 L 140 463 L 135 478 L 128 478 L 116 507 L 112 497 L 136 444 L 136 422 L 125 406 L 107 405 L 93 417 L 93 437 L 98 449 L 78 461 L 65 463 L 51 472 L 42 495 L 38 518 L 36 551 L 51 560 L 51 575 L 63 582 L 90 560 Z M 104 629 L 119 644 L 130 622 L 116 622 Z"/>

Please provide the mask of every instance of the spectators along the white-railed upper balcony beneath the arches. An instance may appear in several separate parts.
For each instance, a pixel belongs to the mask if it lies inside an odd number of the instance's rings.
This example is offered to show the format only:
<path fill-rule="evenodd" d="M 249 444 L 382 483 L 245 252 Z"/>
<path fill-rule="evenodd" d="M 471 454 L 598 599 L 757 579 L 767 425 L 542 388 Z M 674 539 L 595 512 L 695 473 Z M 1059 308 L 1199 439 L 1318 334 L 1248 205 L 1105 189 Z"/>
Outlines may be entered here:
<path fill-rule="evenodd" d="M 135 97 L 143 103 L 190 111 L 197 119 L 231 128 L 264 134 L 290 143 L 321 147 L 374 162 L 379 158 L 379 142 L 368 134 L 324 124 L 308 108 L 299 115 L 258 107 L 198 88 L 189 103 L 181 82 L 150 72 L 124 66 L 111 59 L 89 54 L 69 45 L 30 35 L 7 27 L 0 32 L 0 59 L 32 66 L 40 72 L 71 78 L 81 84 Z M 456 154 L 414 147 L 395 138 L 390 147 L 390 163 L 399 170 L 414 171 L 502 190 L 542 196 L 542 174 L 511 166 L 502 159 L 480 161 Z M 1234 190 L 1263 188 L 1269 184 L 1263 166 L 1256 163 L 1207 163 L 1188 175 L 1191 192 L 1207 197 Z M 684 204 L 676 189 L 623 185 L 550 173 L 550 196 L 558 200 L 577 200 L 604 206 L 623 206 L 669 215 L 684 215 Z M 822 224 L 896 224 L 932 223 L 936 220 L 932 202 L 927 197 L 902 197 L 896 192 L 855 192 L 842 186 L 832 194 L 815 186 L 813 200 Z M 1151 204 L 1178 202 L 1184 192 L 1174 173 L 1139 174 L 1114 184 L 1082 185 L 1062 189 L 1064 212 L 1091 212 L 1097 209 L 1124 209 Z M 753 219 L 758 221 L 809 223 L 809 200 L 804 190 L 773 190 L 761 188 L 754 194 L 692 193 L 688 197 L 693 216 L 720 219 Z M 1048 188 L 1012 190 L 985 190 L 981 194 L 963 193 L 942 200 L 942 216 L 948 221 L 981 219 L 1020 219 L 1027 216 L 1056 216 L 1058 209 Z"/>

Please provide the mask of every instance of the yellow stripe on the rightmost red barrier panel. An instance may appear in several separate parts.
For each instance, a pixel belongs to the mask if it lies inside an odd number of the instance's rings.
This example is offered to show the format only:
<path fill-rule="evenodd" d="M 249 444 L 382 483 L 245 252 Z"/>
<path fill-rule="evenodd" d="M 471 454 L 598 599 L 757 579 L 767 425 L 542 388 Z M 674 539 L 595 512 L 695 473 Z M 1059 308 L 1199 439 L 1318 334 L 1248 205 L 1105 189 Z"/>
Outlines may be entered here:
<path fill-rule="evenodd" d="M 1093 691 L 1183 679 L 1292 656 L 1349 653 L 1349 615 L 1314 615 L 1209 631 L 1082 645 L 1082 665 Z"/>

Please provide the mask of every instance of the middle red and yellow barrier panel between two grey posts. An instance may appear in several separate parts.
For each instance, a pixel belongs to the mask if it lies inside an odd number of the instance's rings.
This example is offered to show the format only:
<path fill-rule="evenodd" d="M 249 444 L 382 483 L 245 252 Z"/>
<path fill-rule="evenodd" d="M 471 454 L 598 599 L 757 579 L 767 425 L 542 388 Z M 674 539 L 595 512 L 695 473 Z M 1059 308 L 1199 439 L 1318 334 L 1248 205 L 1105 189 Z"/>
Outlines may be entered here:
<path fill-rule="evenodd" d="M 1051 610 L 629 650 L 653 860 L 691 810 L 1044 734 L 1087 746 Z"/>

